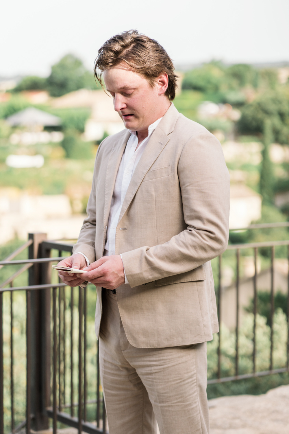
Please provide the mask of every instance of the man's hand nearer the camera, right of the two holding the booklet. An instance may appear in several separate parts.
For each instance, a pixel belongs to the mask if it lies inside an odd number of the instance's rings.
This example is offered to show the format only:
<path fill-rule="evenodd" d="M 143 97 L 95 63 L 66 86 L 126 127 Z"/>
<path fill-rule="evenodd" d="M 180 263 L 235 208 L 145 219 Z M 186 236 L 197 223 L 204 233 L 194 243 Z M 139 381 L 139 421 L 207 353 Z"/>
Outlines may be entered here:
<path fill-rule="evenodd" d="M 123 261 L 120 255 L 103 256 L 84 270 L 88 272 L 82 275 L 84 279 L 95 286 L 115 289 L 125 283 Z"/>

